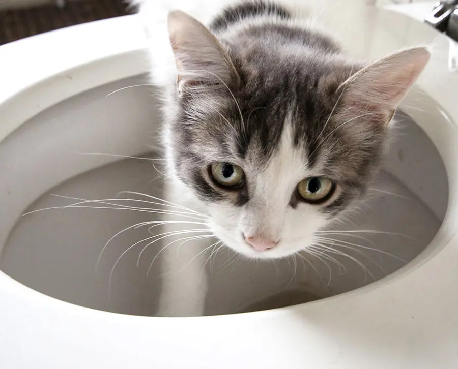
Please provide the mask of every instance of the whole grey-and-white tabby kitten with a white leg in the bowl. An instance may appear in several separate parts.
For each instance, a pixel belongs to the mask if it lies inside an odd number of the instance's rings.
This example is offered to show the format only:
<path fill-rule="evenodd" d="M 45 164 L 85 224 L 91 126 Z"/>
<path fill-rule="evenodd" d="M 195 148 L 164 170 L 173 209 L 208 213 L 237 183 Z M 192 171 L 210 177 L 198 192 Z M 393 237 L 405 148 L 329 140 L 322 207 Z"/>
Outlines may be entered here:
<path fill-rule="evenodd" d="M 204 214 L 195 223 L 247 258 L 283 258 L 364 199 L 427 48 L 352 60 L 291 0 L 134 3 L 161 87 L 166 193 Z M 205 313 L 210 240 L 161 251 L 156 315 Z"/>

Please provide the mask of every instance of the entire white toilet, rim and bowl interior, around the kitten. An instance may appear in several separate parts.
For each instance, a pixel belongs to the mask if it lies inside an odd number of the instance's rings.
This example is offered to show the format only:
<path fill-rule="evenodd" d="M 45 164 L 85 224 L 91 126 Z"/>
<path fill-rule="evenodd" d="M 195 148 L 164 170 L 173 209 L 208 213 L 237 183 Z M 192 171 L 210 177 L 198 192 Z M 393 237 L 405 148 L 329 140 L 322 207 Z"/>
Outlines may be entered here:
<path fill-rule="evenodd" d="M 0 367 L 456 368 L 455 43 L 392 11 L 353 16 L 339 41 L 356 57 L 433 45 L 400 107 L 399 140 L 382 175 L 387 187 L 374 189 L 382 200 L 360 218 L 386 230 L 359 249 L 374 262 L 364 259 L 364 269 L 347 260 L 341 270 L 317 259 L 314 270 L 294 259 L 255 269 L 215 249 L 204 317 L 152 316 L 155 252 L 138 258 L 140 247 L 120 257 L 146 231 L 123 233 L 94 271 L 110 236 L 151 214 L 65 207 L 78 199 L 112 203 L 123 190 L 137 200 L 145 196 L 133 192 L 160 191 L 160 160 L 149 160 L 159 150 L 157 95 L 145 85 L 137 16 L 0 47 Z M 44 208 L 53 209 L 35 211 Z M 377 241 L 384 253 L 370 250 Z"/>

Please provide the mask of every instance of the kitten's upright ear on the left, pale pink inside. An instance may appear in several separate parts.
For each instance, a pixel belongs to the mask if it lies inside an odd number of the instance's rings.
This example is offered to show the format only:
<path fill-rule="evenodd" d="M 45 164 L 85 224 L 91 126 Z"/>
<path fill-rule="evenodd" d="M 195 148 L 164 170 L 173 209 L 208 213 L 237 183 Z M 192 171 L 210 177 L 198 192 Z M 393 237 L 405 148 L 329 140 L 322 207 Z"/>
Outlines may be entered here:
<path fill-rule="evenodd" d="M 168 14 L 168 34 L 178 70 L 177 86 L 218 86 L 239 76 L 218 39 L 200 22 L 181 11 Z"/>

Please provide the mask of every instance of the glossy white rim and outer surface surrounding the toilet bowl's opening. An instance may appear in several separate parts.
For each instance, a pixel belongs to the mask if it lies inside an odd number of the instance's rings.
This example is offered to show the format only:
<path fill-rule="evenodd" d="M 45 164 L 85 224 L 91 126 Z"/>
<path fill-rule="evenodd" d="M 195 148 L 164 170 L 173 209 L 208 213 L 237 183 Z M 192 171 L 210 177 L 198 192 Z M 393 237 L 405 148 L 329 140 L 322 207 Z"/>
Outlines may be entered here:
<path fill-rule="evenodd" d="M 352 39 L 356 54 L 375 58 L 405 46 L 434 45 L 432 60 L 418 81 L 425 93 L 425 112 L 411 109 L 409 114 L 437 145 L 450 193 L 443 225 L 419 257 L 383 280 L 325 300 L 198 318 L 138 317 L 82 308 L 0 272 L 0 367 L 455 368 L 458 74 L 449 71 L 453 41 L 384 10 L 371 9 L 357 19 L 351 31 L 360 37 Z M 138 23 L 136 16 L 115 18 L 2 46 L 0 140 L 59 101 L 146 72 Z M 60 52 L 49 59 L 55 45 Z M 75 174 L 75 168 L 66 168 L 61 175 L 65 179 Z M 0 244 L 21 211 L 52 183 L 34 186 L 30 197 L 5 207 L 14 217 L 2 216 Z"/>

